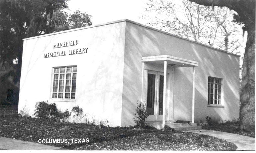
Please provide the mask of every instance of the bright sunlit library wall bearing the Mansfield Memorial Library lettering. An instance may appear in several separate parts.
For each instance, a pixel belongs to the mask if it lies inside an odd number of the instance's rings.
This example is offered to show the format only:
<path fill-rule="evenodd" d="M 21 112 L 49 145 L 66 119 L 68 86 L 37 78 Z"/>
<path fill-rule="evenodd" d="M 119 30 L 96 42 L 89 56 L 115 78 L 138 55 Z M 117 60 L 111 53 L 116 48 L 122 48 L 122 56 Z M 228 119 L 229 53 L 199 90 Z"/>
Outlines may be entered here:
<path fill-rule="evenodd" d="M 36 102 L 48 100 L 61 110 L 79 105 L 89 119 L 121 125 L 125 22 L 91 27 L 24 40 L 19 110 L 26 105 L 33 115 Z M 76 40 L 76 46 L 53 48 Z M 87 53 L 68 55 L 68 50 L 80 48 L 88 48 Z M 57 51 L 66 51 L 66 56 L 44 58 Z M 77 65 L 75 102 L 50 101 L 53 67 L 73 65 Z"/>

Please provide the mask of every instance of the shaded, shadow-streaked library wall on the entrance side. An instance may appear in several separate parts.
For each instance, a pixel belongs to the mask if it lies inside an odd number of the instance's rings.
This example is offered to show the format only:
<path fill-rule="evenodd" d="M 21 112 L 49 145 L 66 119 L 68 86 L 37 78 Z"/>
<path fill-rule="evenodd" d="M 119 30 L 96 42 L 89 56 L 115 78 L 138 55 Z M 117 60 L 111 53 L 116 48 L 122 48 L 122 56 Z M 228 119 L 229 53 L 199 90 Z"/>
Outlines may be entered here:
<path fill-rule="evenodd" d="M 141 57 L 170 55 L 199 62 L 195 76 L 195 121 L 239 117 L 239 57 L 185 39 L 126 22 L 122 125 L 135 124 L 141 99 Z M 163 70 L 162 70 L 163 72 Z M 174 70 L 174 120 L 192 120 L 193 68 Z M 224 107 L 208 107 L 208 76 L 223 78 Z"/>

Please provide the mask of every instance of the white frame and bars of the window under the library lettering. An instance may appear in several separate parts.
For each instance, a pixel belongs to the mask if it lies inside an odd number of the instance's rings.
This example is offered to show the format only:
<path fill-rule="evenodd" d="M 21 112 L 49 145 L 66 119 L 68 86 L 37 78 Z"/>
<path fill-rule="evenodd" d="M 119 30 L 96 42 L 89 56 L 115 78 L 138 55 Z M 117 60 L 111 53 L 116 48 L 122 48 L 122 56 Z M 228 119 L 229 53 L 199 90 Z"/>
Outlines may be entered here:
<path fill-rule="evenodd" d="M 77 76 L 77 70 L 76 72 L 71 72 L 71 73 L 67 73 L 67 68 L 69 67 L 76 67 L 77 69 L 77 65 L 71 65 L 71 66 L 59 66 L 59 67 L 52 67 L 52 73 L 51 73 L 51 90 L 50 90 L 50 99 L 49 101 L 66 101 L 66 102 L 75 102 L 76 99 L 76 90 L 75 92 L 75 98 L 71 98 L 71 93 L 72 93 L 72 83 L 73 83 L 73 74 L 76 74 Z M 54 73 L 54 70 L 57 68 L 65 68 L 65 72 L 64 73 Z M 72 69 L 73 70 L 73 69 Z M 57 98 L 53 98 L 53 85 L 54 85 L 54 75 L 58 74 L 58 85 L 57 85 Z M 64 74 L 64 85 L 63 85 L 63 98 L 58 98 L 59 97 L 59 83 L 60 83 L 60 74 Z M 67 79 L 67 74 L 71 74 L 71 78 L 70 78 L 70 92 L 69 92 L 69 97 L 70 98 L 65 98 L 65 91 L 66 91 L 66 79 Z M 77 77 L 76 77 L 76 81 L 77 81 Z M 77 88 L 77 85 L 75 85 L 75 89 Z"/>

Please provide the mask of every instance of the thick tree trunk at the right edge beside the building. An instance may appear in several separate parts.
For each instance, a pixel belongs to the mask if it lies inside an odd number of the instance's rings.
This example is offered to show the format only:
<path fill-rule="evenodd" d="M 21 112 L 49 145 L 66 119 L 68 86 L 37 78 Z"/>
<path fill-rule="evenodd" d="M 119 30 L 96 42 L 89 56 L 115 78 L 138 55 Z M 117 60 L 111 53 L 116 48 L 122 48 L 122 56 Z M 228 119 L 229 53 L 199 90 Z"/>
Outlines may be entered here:
<path fill-rule="evenodd" d="M 240 96 L 240 129 L 254 128 L 255 124 L 255 24 L 247 32 Z"/>

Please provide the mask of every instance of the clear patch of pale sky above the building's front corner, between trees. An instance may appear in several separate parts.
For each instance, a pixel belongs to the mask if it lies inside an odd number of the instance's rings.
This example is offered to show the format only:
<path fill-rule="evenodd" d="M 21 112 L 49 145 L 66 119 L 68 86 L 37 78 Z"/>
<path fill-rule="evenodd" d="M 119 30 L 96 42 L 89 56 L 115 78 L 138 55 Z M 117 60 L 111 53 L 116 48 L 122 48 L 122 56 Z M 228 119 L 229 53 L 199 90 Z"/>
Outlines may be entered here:
<path fill-rule="evenodd" d="M 140 22 L 144 6 L 147 0 L 70 0 L 68 13 L 76 10 L 92 15 L 92 23 L 100 24 L 129 19 Z M 143 24 L 143 23 L 142 23 Z"/>

